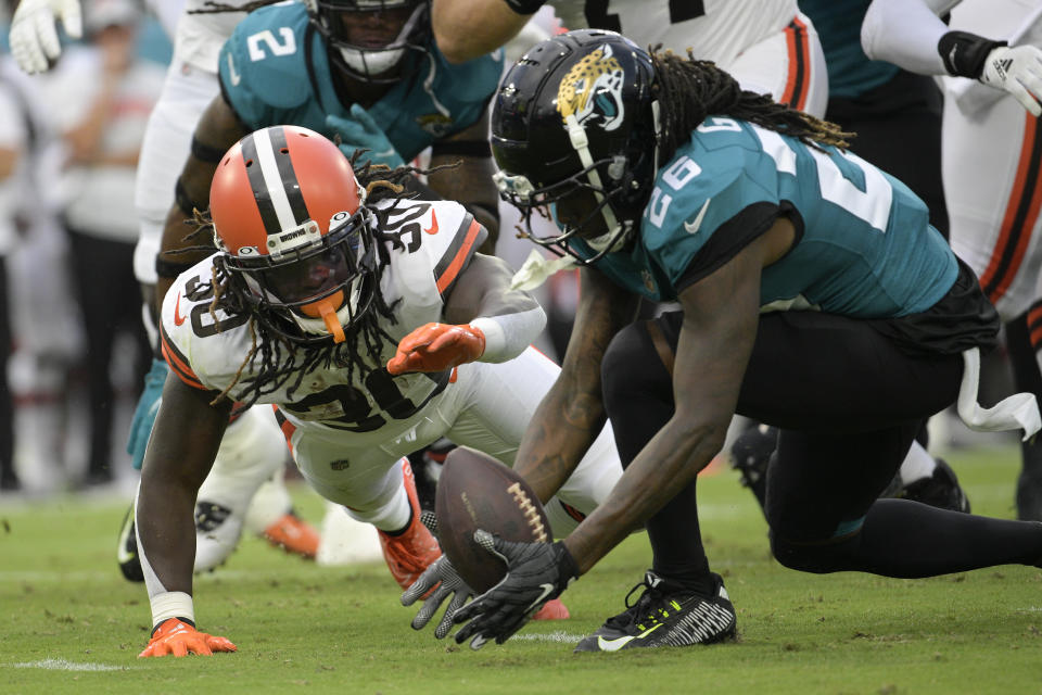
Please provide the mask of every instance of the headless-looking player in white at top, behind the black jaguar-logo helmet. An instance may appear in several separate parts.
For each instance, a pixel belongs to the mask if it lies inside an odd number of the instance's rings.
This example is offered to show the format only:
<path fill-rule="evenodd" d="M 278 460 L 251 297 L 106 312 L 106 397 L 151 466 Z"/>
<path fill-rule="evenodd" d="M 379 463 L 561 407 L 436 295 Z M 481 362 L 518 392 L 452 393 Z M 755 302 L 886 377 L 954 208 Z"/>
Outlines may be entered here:
<path fill-rule="evenodd" d="M 433 0 L 434 38 L 445 56 L 463 62 L 517 34 L 546 0 Z M 611 29 L 639 46 L 711 60 L 744 89 L 815 116 L 825 113 L 828 78 L 813 23 L 796 0 L 550 0 L 568 29 Z"/>

